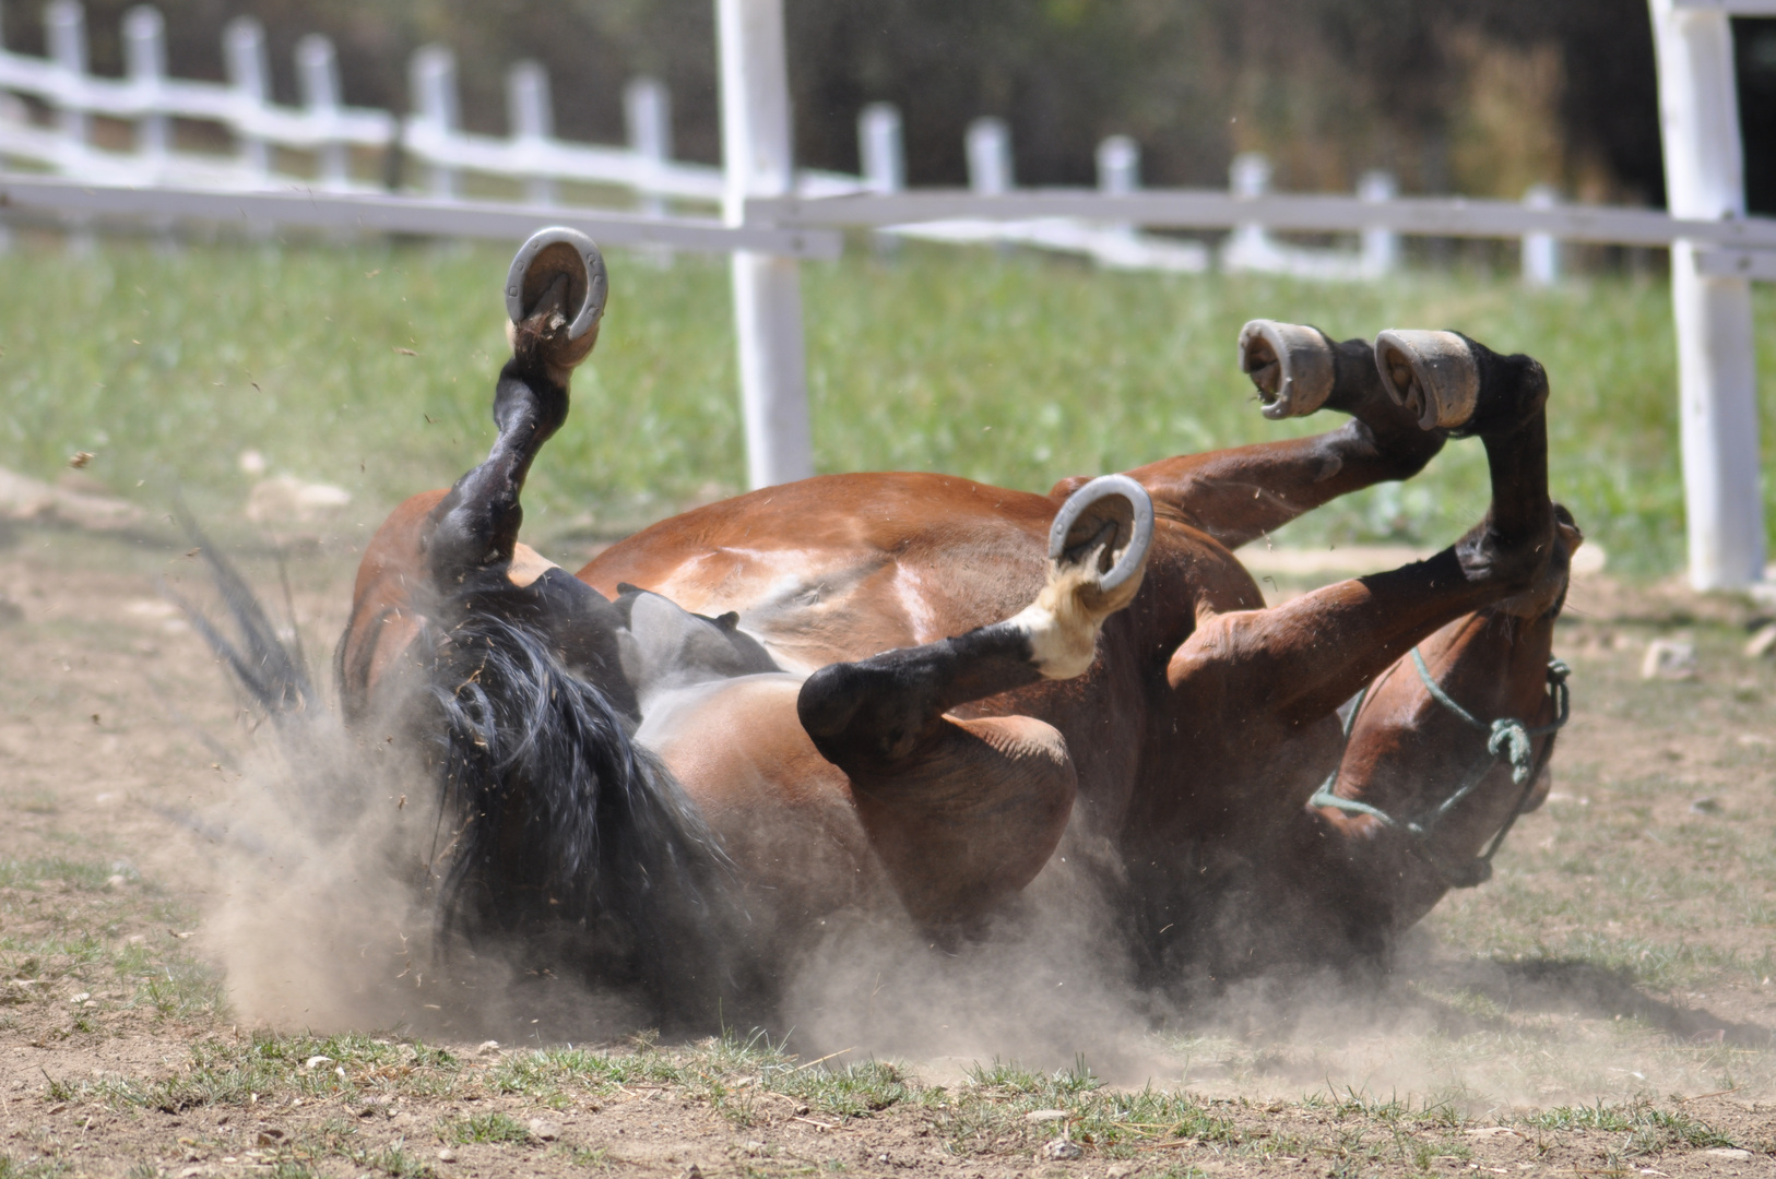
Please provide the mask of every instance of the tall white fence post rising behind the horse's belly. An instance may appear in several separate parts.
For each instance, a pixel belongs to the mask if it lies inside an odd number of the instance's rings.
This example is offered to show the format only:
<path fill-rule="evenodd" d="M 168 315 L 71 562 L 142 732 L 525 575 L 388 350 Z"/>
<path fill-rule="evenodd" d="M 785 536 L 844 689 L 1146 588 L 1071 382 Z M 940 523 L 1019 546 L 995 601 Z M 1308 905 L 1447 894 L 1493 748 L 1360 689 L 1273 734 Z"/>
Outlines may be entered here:
<path fill-rule="evenodd" d="M 716 0 L 721 41 L 723 217 L 744 224 L 748 197 L 789 195 L 796 185 L 783 0 Z M 792 257 L 733 254 L 746 476 L 751 487 L 813 474 L 808 373 L 801 330 L 801 272 Z"/>

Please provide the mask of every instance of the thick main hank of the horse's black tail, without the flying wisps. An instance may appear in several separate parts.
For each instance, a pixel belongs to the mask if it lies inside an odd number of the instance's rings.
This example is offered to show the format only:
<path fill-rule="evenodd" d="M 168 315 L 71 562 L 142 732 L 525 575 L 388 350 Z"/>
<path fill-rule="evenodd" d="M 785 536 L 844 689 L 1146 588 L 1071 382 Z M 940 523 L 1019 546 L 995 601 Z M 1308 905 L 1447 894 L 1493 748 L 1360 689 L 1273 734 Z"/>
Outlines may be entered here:
<path fill-rule="evenodd" d="M 499 597 L 462 595 L 421 639 L 432 666 L 412 732 L 449 827 L 440 927 L 707 1021 L 735 989 L 728 859 L 606 692 Z"/>

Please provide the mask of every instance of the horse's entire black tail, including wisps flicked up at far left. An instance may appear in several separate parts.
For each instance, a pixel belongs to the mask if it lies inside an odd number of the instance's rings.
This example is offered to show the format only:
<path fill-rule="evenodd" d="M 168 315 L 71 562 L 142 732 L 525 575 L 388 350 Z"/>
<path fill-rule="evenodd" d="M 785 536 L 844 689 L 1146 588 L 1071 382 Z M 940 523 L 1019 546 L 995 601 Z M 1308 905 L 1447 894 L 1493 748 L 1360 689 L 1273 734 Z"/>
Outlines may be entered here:
<path fill-rule="evenodd" d="M 384 794 L 384 769 L 348 740 L 316 756 L 321 732 L 346 726 L 321 724 L 337 717 L 302 650 L 179 515 L 236 637 L 170 588 L 167 597 L 274 721 L 289 764 L 305 767 L 289 783 L 302 795 L 289 799 L 293 817 L 313 838 L 348 835 L 369 795 Z M 428 604 L 428 618 L 453 621 L 416 639 L 414 689 L 396 716 L 373 721 L 403 733 L 437 785 L 433 847 L 410 851 L 430 866 L 439 945 L 462 939 L 538 973 L 630 991 L 664 1023 L 712 1026 L 723 1000 L 732 1012 L 755 989 L 742 982 L 746 916 L 721 843 L 606 692 L 563 666 L 527 604 L 501 598 L 483 590 Z"/>

